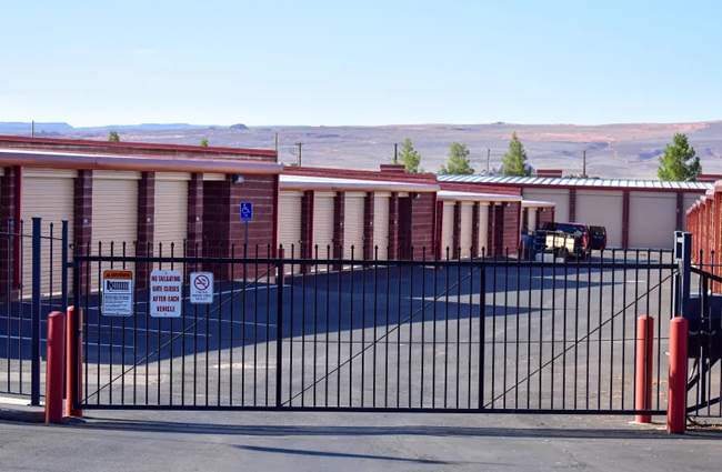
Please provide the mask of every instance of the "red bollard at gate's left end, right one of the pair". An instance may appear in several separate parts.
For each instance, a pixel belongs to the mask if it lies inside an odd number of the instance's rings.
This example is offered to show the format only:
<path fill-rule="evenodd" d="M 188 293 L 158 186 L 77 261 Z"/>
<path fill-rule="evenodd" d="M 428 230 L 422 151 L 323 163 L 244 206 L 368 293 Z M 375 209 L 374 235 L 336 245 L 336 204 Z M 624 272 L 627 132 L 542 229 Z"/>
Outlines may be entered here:
<path fill-rule="evenodd" d="M 48 361 L 46 365 L 46 423 L 62 421 L 62 374 L 66 359 L 66 315 L 48 315 Z"/>

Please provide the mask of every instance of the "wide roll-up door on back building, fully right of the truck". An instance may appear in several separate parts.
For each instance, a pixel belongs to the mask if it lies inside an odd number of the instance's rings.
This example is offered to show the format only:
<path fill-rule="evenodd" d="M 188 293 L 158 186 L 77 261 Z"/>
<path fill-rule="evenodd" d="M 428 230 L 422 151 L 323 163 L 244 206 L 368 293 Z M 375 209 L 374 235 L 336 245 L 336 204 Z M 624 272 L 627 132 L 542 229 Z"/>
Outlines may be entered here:
<path fill-rule="evenodd" d="M 630 192 L 629 247 L 672 249 L 676 193 Z"/>

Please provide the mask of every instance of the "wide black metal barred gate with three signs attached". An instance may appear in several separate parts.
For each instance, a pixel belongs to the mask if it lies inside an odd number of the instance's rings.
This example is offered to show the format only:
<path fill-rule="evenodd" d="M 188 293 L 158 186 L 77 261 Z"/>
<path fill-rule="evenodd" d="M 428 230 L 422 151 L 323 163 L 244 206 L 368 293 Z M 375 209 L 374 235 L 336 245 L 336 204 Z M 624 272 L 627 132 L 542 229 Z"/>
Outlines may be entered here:
<path fill-rule="evenodd" d="M 338 260 L 330 248 L 313 259 L 293 258 L 299 248 L 287 258 L 270 247 L 129 255 L 136 249 L 98 244 L 76 255 L 83 409 L 666 411 L 678 273 L 666 251 L 538 262 L 435 260 L 427 249 L 402 261 L 359 260 L 353 250 Z M 101 271 L 111 268 L 181 271 L 180 317 L 150 317 L 143 283 L 133 317 L 103 317 Z M 198 270 L 215 274 L 210 305 L 187 300 Z M 653 332 L 639 332 L 642 314 L 655 319 Z M 651 359 L 643 354 L 651 392 L 635 375 L 643 335 L 653 339 Z M 652 396 L 643 409 L 639 389 Z"/>

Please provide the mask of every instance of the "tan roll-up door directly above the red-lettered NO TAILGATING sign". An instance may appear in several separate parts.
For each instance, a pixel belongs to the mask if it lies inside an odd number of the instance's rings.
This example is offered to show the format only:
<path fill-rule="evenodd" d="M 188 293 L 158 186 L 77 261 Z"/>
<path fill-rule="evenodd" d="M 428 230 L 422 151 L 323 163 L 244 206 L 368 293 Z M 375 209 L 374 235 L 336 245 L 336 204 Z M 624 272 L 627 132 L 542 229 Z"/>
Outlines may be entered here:
<path fill-rule="evenodd" d="M 183 241 L 188 238 L 188 181 L 190 173 L 156 174 L 154 253 L 163 257 L 183 257 Z M 163 267 L 166 269 L 166 267 Z M 168 268 L 170 269 L 170 267 Z"/>

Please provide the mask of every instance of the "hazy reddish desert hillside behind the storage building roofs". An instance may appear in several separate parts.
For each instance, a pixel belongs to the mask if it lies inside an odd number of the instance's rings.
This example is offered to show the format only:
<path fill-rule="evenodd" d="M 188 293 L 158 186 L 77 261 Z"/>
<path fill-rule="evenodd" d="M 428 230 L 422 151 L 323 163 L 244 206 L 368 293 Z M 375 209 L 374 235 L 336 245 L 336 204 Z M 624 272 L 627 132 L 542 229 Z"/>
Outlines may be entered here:
<path fill-rule="evenodd" d="M 443 163 L 452 141 L 460 141 L 471 151 L 477 171 L 487 167 L 487 149 L 491 149 L 491 167 L 499 167 L 509 138 L 517 131 L 524 143 L 530 163 L 535 168 L 561 168 L 565 173 L 582 170 L 582 151 L 586 150 L 591 175 L 630 179 L 656 178 L 656 158 L 675 132 L 689 135 L 702 160 L 705 173 L 722 173 L 722 121 L 680 124 L 418 124 L 383 127 L 189 127 L 166 129 L 159 125 L 118 128 L 121 140 L 198 144 L 207 138 L 211 145 L 273 148 L 279 133 L 279 155 L 293 162 L 291 149 L 303 143 L 303 164 L 318 167 L 378 169 L 389 162 L 393 143 L 410 138 L 421 153 L 421 164 L 435 171 Z M 103 129 L 36 129 L 37 135 L 106 139 Z M 3 130 L 20 134 L 22 130 Z"/>

